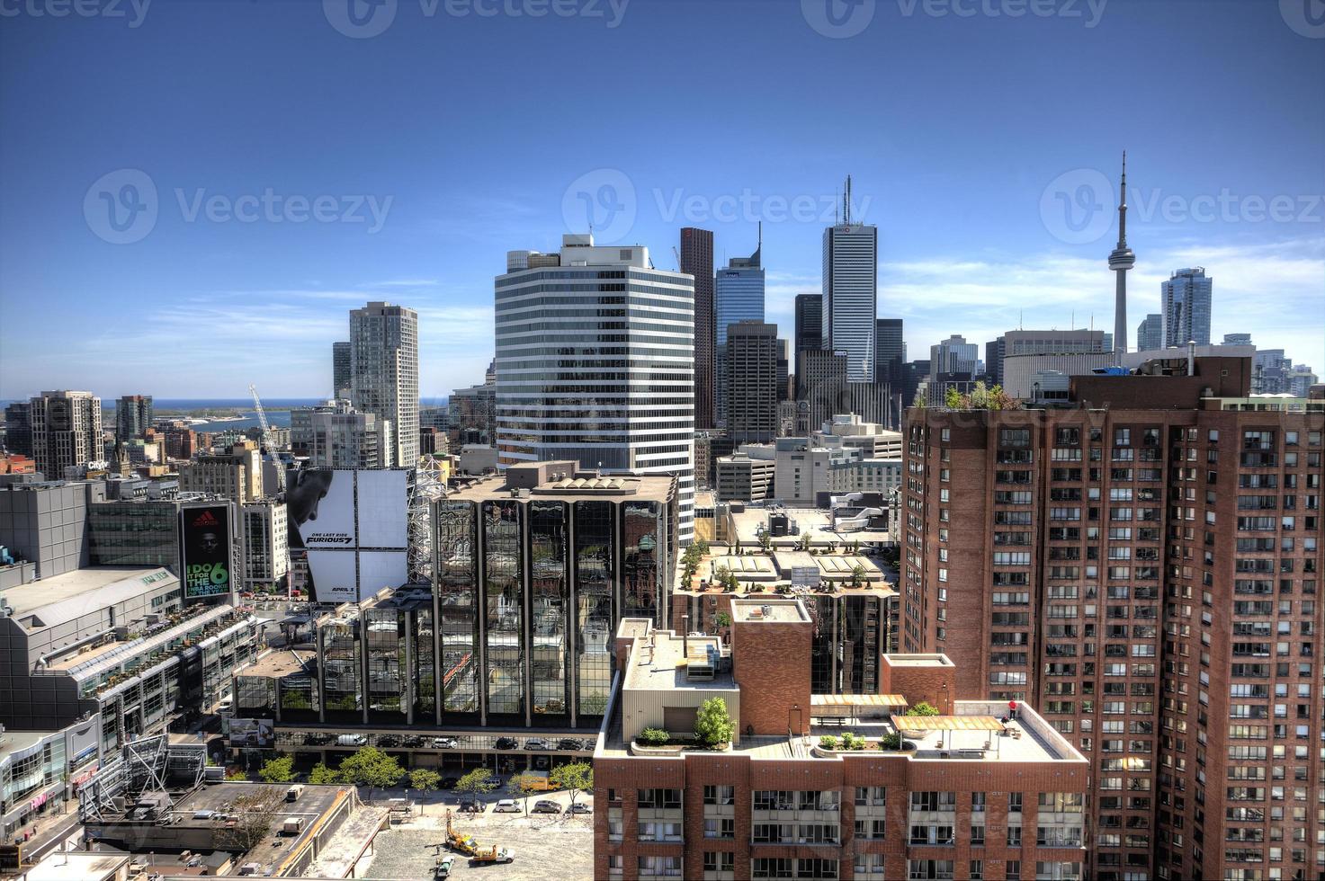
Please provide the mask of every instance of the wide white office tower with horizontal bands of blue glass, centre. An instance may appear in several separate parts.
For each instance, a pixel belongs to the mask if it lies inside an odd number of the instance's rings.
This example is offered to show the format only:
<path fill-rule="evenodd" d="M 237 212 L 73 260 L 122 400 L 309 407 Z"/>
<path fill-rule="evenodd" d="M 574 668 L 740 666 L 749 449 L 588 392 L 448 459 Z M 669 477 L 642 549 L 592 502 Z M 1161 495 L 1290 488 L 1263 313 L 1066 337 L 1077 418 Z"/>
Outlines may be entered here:
<path fill-rule="evenodd" d="M 613 321 L 586 321 L 611 310 Z M 576 460 L 678 478 L 680 538 L 694 519 L 694 282 L 648 248 L 563 236 L 513 250 L 496 278 L 501 462 Z M 554 342 L 555 347 L 550 344 Z"/>

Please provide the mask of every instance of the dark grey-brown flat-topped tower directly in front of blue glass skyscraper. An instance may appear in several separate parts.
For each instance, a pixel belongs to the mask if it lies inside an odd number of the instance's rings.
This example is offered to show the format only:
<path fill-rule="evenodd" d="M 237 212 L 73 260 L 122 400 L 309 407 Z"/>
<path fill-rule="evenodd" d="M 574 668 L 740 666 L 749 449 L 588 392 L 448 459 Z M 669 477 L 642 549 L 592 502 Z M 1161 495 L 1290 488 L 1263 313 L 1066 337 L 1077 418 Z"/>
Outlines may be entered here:
<path fill-rule="evenodd" d="M 767 444 L 778 436 L 778 326 L 743 321 L 727 327 L 727 436 Z M 783 380 L 784 384 L 784 380 Z"/>

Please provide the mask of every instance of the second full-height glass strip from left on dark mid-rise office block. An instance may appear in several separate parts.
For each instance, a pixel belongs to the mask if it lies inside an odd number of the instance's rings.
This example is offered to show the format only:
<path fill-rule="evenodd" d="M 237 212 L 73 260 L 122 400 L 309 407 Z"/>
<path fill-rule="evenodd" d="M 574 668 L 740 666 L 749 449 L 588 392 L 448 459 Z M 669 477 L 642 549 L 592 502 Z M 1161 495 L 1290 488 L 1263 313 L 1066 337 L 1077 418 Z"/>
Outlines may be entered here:
<path fill-rule="evenodd" d="M 523 506 L 484 502 L 484 619 L 488 654 L 488 715 L 525 713 L 525 635 L 521 555 Z"/>

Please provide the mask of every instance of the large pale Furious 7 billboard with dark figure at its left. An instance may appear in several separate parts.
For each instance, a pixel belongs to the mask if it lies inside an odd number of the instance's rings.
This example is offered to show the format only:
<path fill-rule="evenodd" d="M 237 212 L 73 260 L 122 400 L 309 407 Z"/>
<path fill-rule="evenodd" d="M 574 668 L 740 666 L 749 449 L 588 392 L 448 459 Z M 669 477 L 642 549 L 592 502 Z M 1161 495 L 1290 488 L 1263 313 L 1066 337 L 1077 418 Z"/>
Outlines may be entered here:
<path fill-rule="evenodd" d="M 354 603 L 408 580 L 409 470 L 303 469 L 286 492 L 289 546 L 319 603 Z"/>

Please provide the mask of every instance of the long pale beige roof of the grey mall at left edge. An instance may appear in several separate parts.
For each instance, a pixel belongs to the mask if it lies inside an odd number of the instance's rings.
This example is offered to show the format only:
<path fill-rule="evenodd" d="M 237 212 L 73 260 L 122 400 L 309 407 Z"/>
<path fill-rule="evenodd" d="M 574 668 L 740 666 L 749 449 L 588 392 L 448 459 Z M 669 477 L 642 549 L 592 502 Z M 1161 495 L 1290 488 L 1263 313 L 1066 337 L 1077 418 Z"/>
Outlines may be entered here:
<path fill-rule="evenodd" d="M 34 616 L 37 620 L 33 623 L 20 621 L 33 631 L 122 603 L 167 579 L 179 583 L 179 579 L 158 566 L 93 566 L 12 587 L 0 594 L 0 599 L 13 609 L 11 617 Z"/>

